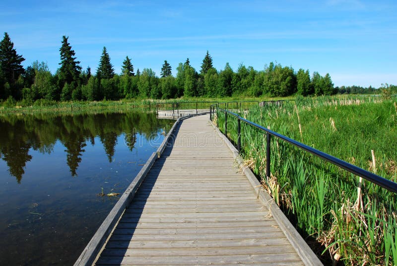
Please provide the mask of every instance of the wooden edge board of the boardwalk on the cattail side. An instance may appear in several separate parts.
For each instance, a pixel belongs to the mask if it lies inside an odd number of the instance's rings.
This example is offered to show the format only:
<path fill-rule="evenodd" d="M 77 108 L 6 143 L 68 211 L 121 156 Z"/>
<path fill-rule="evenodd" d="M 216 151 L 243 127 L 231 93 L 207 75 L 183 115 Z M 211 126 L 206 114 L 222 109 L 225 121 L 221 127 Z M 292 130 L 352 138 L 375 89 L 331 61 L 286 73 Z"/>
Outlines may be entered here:
<path fill-rule="evenodd" d="M 276 222 L 280 226 L 280 229 L 283 231 L 291 245 L 294 247 L 299 257 L 302 259 L 303 263 L 308 266 L 323 265 L 319 258 L 316 256 L 316 254 L 314 254 L 313 250 L 309 247 L 309 245 L 305 242 L 302 236 L 298 233 L 295 227 L 291 224 L 288 218 L 275 203 L 273 198 L 271 198 L 271 196 L 263 189 L 262 184 L 258 181 L 257 177 L 254 175 L 251 169 L 244 164 L 236 147 L 234 147 L 229 139 L 219 131 L 216 125 L 212 123 L 212 121 L 209 120 L 209 123 L 230 148 L 233 153 L 233 157 L 235 158 L 239 167 L 242 169 L 243 173 L 247 176 L 248 180 L 253 186 L 258 199 L 260 199 L 270 210 L 271 215 L 275 218 Z"/>

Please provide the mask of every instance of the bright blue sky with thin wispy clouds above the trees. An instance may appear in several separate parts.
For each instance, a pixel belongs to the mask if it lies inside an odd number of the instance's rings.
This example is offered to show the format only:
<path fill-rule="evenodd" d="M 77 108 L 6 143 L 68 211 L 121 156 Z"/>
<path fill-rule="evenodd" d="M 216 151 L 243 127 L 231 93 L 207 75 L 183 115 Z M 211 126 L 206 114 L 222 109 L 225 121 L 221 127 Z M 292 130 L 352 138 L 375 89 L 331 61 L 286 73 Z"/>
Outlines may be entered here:
<path fill-rule="evenodd" d="M 157 75 L 190 59 L 199 71 L 208 50 L 226 62 L 264 69 L 269 62 L 331 74 L 335 86 L 397 84 L 397 2 L 327 1 L 5 1 L 7 32 L 26 60 L 60 62 L 62 36 L 95 72 L 106 46 L 119 73 L 126 56 Z"/>

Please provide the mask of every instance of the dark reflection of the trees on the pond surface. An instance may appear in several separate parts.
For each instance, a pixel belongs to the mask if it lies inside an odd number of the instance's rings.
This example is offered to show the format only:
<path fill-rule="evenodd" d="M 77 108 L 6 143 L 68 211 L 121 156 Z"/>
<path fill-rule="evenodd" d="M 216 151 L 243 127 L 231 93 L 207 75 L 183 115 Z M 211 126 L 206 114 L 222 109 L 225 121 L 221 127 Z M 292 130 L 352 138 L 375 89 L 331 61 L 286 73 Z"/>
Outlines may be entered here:
<path fill-rule="evenodd" d="M 128 134 L 126 144 L 132 150 L 137 133 L 149 138 L 159 128 L 168 125 L 168 121 L 157 120 L 154 113 L 2 116 L 0 158 L 6 161 L 9 174 L 20 183 L 25 173 L 26 162 L 32 159 L 29 149 L 50 154 L 59 140 L 66 148 L 66 163 L 70 173 L 76 176 L 86 142 L 94 145 L 96 136 L 99 136 L 111 162 L 117 138 L 121 134 Z"/>

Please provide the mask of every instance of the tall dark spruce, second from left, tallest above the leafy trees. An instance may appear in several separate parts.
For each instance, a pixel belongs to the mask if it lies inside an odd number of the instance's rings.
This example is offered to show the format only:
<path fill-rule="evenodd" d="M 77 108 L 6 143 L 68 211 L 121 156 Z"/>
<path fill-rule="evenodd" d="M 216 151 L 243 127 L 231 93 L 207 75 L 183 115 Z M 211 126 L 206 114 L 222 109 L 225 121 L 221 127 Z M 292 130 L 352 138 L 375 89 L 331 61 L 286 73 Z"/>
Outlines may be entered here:
<path fill-rule="evenodd" d="M 76 61 L 74 50 L 71 49 L 70 44 L 67 42 L 65 35 L 62 36 L 62 46 L 59 49 L 61 52 L 61 65 L 59 69 L 59 85 L 61 88 L 65 86 L 65 84 L 71 84 L 73 81 L 77 83 L 78 77 L 81 73 L 81 67 L 79 61 Z M 74 85 L 74 87 L 77 84 Z"/>

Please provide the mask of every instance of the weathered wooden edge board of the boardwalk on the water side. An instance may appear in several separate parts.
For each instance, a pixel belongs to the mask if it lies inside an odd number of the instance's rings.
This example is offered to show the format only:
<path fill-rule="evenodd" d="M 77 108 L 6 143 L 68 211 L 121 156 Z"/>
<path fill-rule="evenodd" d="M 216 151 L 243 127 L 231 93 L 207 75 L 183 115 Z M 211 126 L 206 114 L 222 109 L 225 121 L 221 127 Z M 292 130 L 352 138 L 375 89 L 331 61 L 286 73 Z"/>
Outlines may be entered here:
<path fill-rule="evenodd" d="M 135 176 L 132 180 L 130 186 L 126 189 L 117 203 L 114 205 L 112 210 L 109 212 L 108 216 L 102 222 L 101 226 L 99 226 L 98 230 L 91 238 L 90 242 L 88 242 L 87 246 L 84 248 L 80 256 L 78 257 L 77 261 L 74 263 L 74 266 L 82 266 L 82 265 L 92 265 L 96 260 L 98 254 L 102 250 L 106 240 L 110 236 L 111 232 L 114 230 L 114 227 L 117 225 L 118 220 L 124 213 L 126 207 L 130 205 L 132 199 L 135 196 L 136 191 L 138 190 L 140 184 L 146 177 L 147 173 L 149 172 L 150 168 L 153 166 L 154 162 L 158 157 L 161 156 L 162 152 L 164 151 L 168 140 L 173 136 L 173 132 L 176 126 L 182 121 L 187 118 L 199 115 L 205 115 L 207 113 L 201 114 L 194 114 L 185 117 L 180 117 L 174 123 L 166 137 L 164 138 L 163 142 L 161 143 L 160 147 L 154 152 L 149 159 L 146 161 L 145 165 L 139 171 L 139 173 Z"/>

